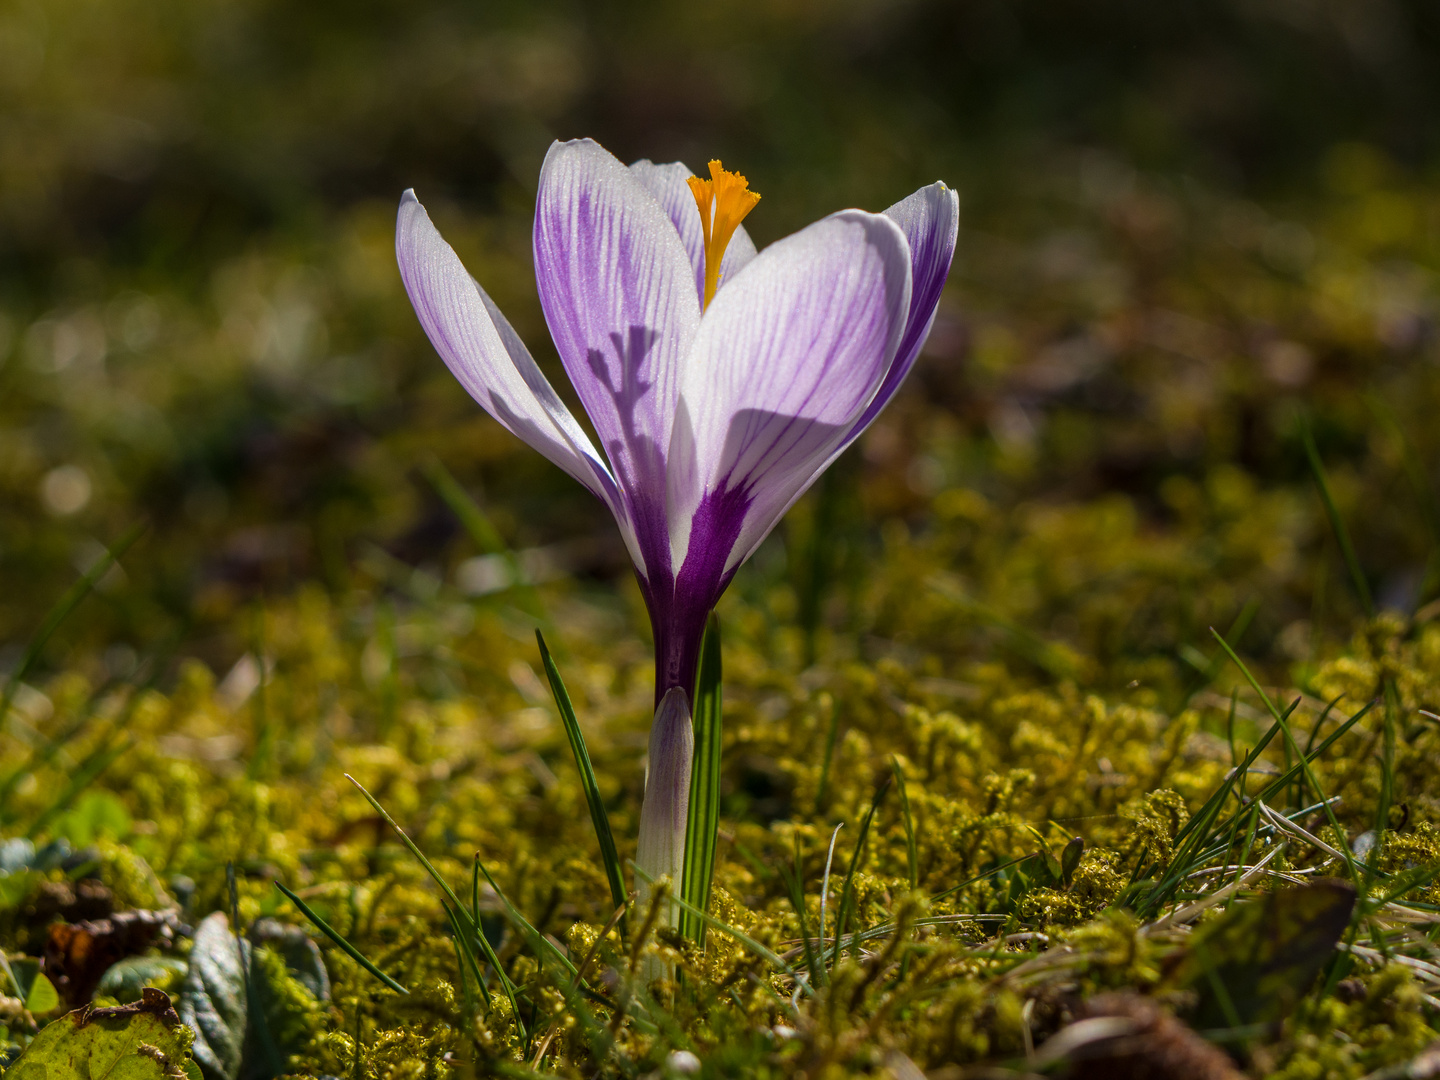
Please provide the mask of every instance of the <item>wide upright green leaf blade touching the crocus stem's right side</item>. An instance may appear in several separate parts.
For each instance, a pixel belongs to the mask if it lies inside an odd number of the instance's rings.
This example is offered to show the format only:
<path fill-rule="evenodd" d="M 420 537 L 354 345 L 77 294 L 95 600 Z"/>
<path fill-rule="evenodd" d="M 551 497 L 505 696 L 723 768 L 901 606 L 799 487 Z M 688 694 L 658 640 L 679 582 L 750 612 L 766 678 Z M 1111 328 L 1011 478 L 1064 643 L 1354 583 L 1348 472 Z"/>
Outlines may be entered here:
<path fill-rule="evenodd" d="M 701 912 L 710 909 L 710 883 L 716 868 L 716 834 L 720 828 L 720 619 L 710 613 L 700 642 L 696 677 L 694 760 L 690 769 L 690 816 L 685 821 L 685 865 L 681 896 Z M 706 943 L 706 923 L 681 910 L 681 933 Z"/>

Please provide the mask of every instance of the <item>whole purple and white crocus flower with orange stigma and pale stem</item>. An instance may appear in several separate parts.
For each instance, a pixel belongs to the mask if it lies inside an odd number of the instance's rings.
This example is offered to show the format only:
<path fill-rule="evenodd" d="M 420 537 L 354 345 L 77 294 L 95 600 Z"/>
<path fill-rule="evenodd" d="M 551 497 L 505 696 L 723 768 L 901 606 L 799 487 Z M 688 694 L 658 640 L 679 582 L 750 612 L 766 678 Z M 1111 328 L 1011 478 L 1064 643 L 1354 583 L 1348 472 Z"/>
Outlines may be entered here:
<path fill-rule="evenodd" d="M 625 166 L 554 143 L 534 220 L 540 305 L 596 449 L 485 289 L 400 202 L 425 333 L 477 402 L 615 516 L 655 635 L 636 864 L 678 886 L 706 618 L 776 521 L 894 396 L 935 321 L 959 206 L 945 184 L 840 210 L 756 252 L 759 196 L 710 163 Z"/>

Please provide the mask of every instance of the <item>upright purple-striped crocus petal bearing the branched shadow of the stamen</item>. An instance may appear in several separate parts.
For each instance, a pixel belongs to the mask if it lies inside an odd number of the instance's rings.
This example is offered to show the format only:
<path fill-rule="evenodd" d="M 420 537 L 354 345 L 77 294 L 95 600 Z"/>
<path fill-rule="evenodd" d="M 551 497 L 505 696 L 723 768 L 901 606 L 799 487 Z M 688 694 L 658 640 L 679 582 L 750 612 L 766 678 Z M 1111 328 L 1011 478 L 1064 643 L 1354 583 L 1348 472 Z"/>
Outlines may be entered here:
<path fill-rule="evenodd" d="M 546 323 L 624 494 L 636 567 L 665 579 L 665 454 L 700 324 L 690 256 L 660 202 L 590 140 L 550 147 L 534 252 Z"/>

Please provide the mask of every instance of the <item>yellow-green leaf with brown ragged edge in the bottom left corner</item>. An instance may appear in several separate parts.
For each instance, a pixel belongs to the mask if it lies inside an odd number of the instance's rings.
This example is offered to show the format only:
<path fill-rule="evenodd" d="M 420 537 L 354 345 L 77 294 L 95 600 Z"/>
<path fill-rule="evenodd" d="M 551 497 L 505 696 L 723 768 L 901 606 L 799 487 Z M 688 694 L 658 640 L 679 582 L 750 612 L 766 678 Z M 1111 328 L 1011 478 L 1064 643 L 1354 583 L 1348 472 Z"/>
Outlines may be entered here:
<path fill-rule="evenodd" d="M 134 1005 L 86 1005 L 42 1028 L 6 1080 L 192 1080 L 189 1048 L 170 998 L 147 989 Z"/>

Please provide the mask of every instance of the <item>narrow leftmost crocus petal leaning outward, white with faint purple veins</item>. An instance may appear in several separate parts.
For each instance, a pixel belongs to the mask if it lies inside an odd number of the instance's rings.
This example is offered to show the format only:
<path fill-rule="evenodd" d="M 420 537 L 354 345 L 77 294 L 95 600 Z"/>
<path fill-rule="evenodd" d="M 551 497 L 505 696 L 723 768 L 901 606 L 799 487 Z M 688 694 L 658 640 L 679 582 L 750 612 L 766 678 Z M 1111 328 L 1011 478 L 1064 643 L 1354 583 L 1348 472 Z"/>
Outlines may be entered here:
<path fill-rule="evenodd" d="M 395 253 L 415 314 L 461 386 L 511 433 L 599 495 L 634 550 L 625 507 L 605 459 L 520 336 L 441 236 L 415 192 L 400 199 Z"/>

